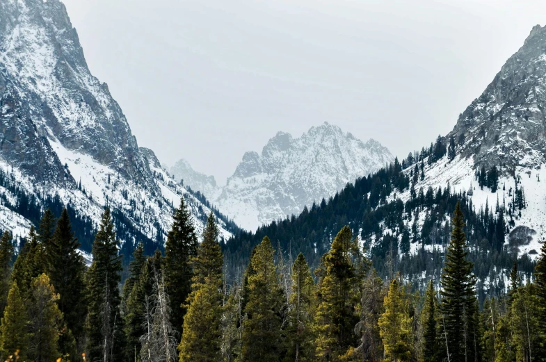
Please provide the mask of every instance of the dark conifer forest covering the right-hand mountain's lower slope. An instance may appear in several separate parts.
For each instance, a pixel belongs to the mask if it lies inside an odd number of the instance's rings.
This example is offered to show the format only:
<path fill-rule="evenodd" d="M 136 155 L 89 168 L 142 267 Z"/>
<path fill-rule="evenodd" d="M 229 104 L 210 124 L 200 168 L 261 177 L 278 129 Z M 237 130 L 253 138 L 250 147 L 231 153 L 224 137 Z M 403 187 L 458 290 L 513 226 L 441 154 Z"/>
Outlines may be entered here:
<path fill-rule="evenodd" d="M 451 230 L 449 218 L 460 201 L 467 217 L 465 233 L 469 259 L 478 278 L 480 305 L 485 297 L 504 294 L 515 258 L 524 274 L 530 275 L 534 268 L 527 254 L 518 256 L 517 249 L 505 243 L 525 206 L 520 182 L 516 180 L 516 189 L 508 190 L 506 200 L 491 200 L 485 208 L 476 208 L 472 203 L 472 190 L 456 193 L 449 183 L 438 188 L 424 187 L 421 179 L 429 157 L 449 156 L 446 148 L 449 151 L 450 147 L 442 146 L 439 139 L 430 149 L 408 155 L 403 163 L 395 159 L 375 174 L 349 183 L 328 201 L 323 199 L 320 204 L 304 208 L 297 217 L 272 222 L 254 233 L 237 233 L 223 245 L 227 279 L 241 277 L 252 249 L 264 236 L 275 248 L 280 245 L 286 257 L 296 258 L 302 252 L 310 266 L 318 268 L 337 231 L 348 225 L 364 242 L 367 257 L 380 277 L 389 277 L 392 270 L 400 271 L 415 290 L 424 292 L 429 279 L 434 279 L 436 285 L 440 281 L 443 251 Z M 404 200 L 395 197 L 408 190 L 409 197 Z"/>

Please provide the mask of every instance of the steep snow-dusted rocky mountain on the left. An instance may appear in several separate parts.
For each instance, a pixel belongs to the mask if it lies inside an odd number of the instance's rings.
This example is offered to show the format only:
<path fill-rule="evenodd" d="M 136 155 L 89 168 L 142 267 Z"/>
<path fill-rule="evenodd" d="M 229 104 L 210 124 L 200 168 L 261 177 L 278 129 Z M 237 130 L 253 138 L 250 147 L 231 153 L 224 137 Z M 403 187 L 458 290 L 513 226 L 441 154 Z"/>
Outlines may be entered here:
<path fill-rule="evenodd" d="M 162 170 L 108 85 L 89 71 L 58 0 L 0 0 L 0 229 L 24 236 L 45 207 L 67 206 L 89 252 L 105 205 L 124 254 L 161 246 L 180 197 L 198 232 L 210 208 Z M 234 224 L 220 217 L 220 233 Z"/>

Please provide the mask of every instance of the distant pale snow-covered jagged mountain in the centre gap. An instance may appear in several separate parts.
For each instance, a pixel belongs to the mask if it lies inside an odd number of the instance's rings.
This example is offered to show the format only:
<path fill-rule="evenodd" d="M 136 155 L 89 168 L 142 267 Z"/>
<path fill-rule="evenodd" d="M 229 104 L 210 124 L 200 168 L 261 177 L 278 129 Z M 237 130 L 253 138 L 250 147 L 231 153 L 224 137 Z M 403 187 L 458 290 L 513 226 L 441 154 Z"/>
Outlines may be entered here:
<path fill-rule="evenodd" d="M 193 172 L 185 161 L 179 161 L 170 172 L 203 192 L 239 226 L 255 230 L 261 224 L 298 215 L 305 206 L 319 204 L 348 182 L 393 159 L 379 142 L 362 142 L 338 126 L 324 123 L 300 138 L 279 132 L 262 154 L 246 152 L 221 190 L 212 186 L 214 178 Z"/>

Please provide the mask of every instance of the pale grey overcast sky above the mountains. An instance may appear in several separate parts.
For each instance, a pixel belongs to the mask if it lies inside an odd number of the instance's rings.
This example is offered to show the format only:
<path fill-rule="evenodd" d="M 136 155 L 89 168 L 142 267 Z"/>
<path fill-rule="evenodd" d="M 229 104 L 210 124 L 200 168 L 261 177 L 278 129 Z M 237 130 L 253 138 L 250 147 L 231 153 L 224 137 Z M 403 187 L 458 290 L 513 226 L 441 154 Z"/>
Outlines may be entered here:
<path fill-rule="evenodd" d="M 543 0 L 64 0 L 91 72 L 163 163 L 230 176 L 325 121 L 398 156 L 546 21 Z"/>

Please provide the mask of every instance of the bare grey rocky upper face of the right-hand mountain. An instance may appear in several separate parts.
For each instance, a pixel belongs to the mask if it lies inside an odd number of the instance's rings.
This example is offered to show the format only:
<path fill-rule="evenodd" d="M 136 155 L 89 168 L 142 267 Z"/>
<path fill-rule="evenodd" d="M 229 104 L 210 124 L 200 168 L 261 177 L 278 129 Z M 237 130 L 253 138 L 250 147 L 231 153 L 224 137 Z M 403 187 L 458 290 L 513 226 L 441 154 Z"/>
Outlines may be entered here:
<path fill-rule="evenodd" d="M 546 160 L 546 28 L 535 26 L 450 133 L 476 165 L 539 167 Z"/>

